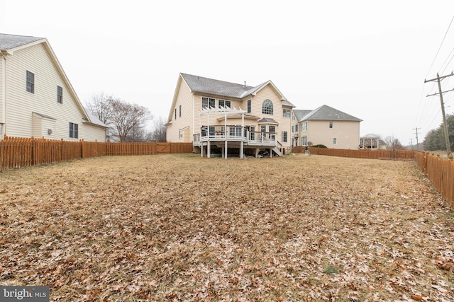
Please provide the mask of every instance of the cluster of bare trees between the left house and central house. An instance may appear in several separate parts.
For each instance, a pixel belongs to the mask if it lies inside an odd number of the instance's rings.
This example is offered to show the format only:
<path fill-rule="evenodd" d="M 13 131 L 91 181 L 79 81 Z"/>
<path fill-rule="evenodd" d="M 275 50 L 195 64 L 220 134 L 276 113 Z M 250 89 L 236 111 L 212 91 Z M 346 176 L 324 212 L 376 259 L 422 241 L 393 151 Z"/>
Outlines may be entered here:
<path fill-rule="evenodd" d="M 153 119 L 148 108 L 104 93 L 92 95 L 85 106 L 106 124 L 109 141 L 166 141 L 165 121 Z"/>

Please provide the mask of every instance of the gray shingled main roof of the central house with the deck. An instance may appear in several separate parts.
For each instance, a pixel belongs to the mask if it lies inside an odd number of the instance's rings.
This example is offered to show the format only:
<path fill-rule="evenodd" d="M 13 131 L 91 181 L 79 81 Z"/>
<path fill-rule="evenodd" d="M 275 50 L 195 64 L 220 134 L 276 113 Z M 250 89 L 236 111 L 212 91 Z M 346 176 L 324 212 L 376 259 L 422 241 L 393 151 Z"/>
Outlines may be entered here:
<path fill-rule="evenodd" d="M 260 86 L 245 86 L 242 84 L 230 83 L 226 81 L 219 81 L 203 76 L 193 76 L 192 74 L 181 74 L 184 81 L 189 86 L 191 91 L 197 93 L 206 93 L 211 95 L 218 95 L 229 98 L 244 98 L 256 91 Z"/>

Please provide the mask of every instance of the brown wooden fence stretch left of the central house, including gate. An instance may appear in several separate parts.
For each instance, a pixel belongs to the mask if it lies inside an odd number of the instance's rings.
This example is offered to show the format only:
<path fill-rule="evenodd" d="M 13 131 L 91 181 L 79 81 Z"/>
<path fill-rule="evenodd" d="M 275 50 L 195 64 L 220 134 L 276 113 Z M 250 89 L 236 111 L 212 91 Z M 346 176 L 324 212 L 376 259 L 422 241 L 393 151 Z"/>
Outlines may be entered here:
<path fill-rule="evenodd" d="M 162 143 L 107 143 L 5 137 L 0 140 L 0 170 L 94 156 L 153 155 Z M 164 143 L 166 153 L 192 153 L 192 143 Z"/>

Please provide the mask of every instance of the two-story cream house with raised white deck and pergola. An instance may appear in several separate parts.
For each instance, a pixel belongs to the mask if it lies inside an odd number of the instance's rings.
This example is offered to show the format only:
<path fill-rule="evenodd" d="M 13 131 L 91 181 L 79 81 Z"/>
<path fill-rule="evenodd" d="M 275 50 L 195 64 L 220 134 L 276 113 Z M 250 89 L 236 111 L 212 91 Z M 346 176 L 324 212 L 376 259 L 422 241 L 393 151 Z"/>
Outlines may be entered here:
<path fill-rule="evenodd" d="M 274 150 L 292 146 L 292 108 L 272 81 L 258 86 L 179 74 L 165 126 L 167 141 L 192 142 L 194 151 Z M 270 151 L 272 155 L 273 151 Z"/>

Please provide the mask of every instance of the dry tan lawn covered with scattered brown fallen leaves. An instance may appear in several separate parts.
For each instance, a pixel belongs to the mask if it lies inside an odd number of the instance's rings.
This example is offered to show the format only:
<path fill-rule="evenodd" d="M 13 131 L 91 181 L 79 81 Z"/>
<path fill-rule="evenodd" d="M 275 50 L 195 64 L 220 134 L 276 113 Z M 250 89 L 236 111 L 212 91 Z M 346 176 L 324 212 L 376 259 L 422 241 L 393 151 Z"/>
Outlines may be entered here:
<path fill-rule="evenodd" d="M 453 301 L 414 163 L 92 158 L 0 173 L 0 284 L 52 301 Z M 444 300 L 443 300 L 444 299 Z"/>

